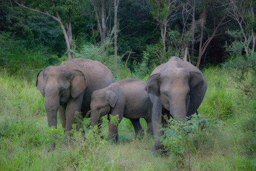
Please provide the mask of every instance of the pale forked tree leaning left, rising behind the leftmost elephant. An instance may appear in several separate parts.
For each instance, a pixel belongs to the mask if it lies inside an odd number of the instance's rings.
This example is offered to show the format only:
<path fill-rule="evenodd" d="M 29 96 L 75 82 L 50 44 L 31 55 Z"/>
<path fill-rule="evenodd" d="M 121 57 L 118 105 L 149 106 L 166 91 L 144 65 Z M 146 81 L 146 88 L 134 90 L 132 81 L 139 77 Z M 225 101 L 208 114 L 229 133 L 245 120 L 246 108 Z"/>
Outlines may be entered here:
<path fill-rule="evenodd" d="M 72 51 L 75 50 L 75 41 L 73 39 L 71 22 L 75 13 L 79 11 L 80 0 L 26 1 L 25 4 L 22 1 L 14 2 L 22 8 L 41 13 L 57 21 L 61 26 L 65 38 L 68 59 L 73 58 Z"/>

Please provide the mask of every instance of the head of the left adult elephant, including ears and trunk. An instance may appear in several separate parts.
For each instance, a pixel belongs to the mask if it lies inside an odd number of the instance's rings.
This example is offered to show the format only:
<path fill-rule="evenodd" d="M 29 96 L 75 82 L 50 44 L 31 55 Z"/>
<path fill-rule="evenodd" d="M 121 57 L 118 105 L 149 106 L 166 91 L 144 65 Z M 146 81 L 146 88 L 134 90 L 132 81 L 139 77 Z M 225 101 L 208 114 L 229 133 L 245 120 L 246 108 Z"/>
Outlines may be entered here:
<path fill-rule="evenodd" d="M 63 66 L 49 66 L 37 74 L 36 87 L 45 97 L 45 108 L 49 127 L 57 127 L 57 111 L 70 98 L 76 98 L 89 85 L 80 71 L 69 72 Z"/>

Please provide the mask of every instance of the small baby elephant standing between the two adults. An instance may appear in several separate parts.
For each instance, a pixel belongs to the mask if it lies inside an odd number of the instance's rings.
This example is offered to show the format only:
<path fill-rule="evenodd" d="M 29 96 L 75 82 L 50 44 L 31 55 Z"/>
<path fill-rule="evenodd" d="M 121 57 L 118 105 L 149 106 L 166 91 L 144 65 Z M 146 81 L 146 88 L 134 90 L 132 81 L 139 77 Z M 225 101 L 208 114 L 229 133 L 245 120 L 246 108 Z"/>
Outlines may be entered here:
<path fill-rule="evenodd" d="M 137 79 L 123 79 L 111 83 L 108 87 L 96 90 L 91 101 L 91 125 L 98 123 L 100 117 L 106 114 L 128 118 L 132 121 L 136 135 L 143 133 L 139 123 L 140 118 L 147 122 L 147 132 L 152 134 L 152 103 L 145 90 L 146 82 Z M 109 139 L 118 141 L 118 125 L 109 123 Z"/>

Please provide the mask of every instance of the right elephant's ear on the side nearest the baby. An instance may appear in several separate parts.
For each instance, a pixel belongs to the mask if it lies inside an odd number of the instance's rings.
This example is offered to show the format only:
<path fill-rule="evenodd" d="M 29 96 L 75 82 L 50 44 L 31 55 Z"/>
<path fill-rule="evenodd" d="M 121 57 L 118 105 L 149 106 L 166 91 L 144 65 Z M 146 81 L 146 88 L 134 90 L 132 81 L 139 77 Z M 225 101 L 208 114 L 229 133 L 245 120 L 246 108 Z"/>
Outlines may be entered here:
<path fill-rule="evenodd" d="M 148 77 L 148 80 L 147 80 L 148 93 L 158 97 L 160 96 L 159 78 L 160 78 L 160 74 L 154 74 Z"/>

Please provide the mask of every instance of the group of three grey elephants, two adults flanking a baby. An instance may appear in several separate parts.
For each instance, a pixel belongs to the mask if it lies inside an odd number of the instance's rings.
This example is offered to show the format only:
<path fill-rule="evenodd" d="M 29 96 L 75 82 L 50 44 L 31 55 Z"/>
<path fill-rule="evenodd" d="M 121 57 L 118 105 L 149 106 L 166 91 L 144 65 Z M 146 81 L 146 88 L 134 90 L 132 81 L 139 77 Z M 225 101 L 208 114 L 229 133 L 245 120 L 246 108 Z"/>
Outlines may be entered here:
<path fill-rule="evenodd" d="M 40 70 L 36 87 L 45 97 L 49 127 L 57 127 L 59 111 L 68 134 L 75 123 L 75 112 L 86 117 L 91 111 L 92 126 L 101 124 L 103 115 L 111 114 L 118 116 L 119 122 L 123 117 L 130 119 L 137 135 L 143 133 L 139 119 L 144 118 L 147 132 L 154 135 L 152 151 L 156 151 L 163 148 L 163 115 L 185 121 L 201 105 L 207 82 L 198 68 L 174 56 L 156 67 L 147 82 L 129 78 L 114 82 L 110 70 L 102 63 L 73 59 Z M 118 140 L 118 127 L 112 122 L 109 138 Z"/>

